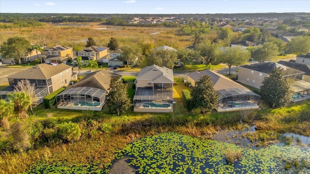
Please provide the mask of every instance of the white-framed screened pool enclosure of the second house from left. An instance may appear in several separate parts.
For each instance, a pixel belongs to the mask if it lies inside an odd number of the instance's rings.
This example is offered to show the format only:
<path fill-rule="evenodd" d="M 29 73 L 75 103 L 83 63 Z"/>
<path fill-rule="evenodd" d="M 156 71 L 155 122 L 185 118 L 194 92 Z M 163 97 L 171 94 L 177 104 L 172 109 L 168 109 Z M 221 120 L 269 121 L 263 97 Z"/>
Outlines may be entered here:
<path fill-rule="evenodd" d="M 101 111 L 107 91 L 94 87 L 71 87 L 56 96 L 57 108 Z"/>

